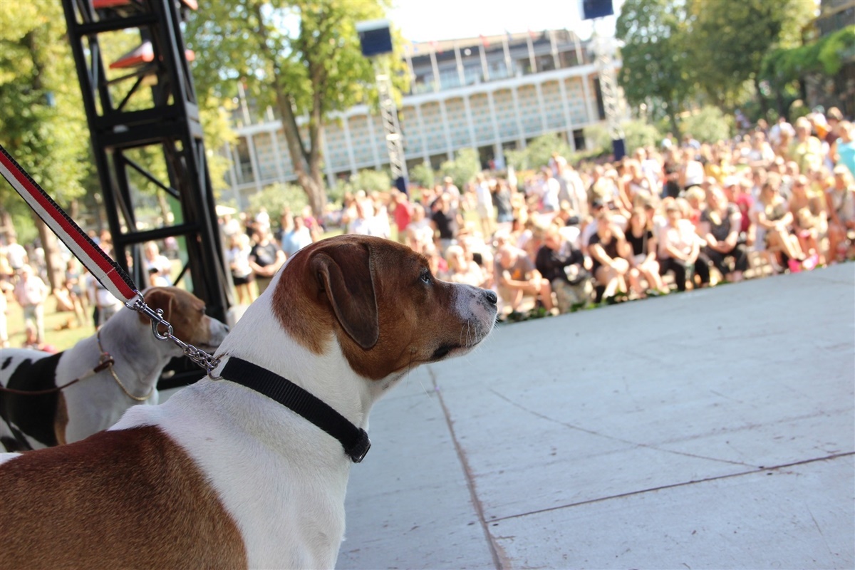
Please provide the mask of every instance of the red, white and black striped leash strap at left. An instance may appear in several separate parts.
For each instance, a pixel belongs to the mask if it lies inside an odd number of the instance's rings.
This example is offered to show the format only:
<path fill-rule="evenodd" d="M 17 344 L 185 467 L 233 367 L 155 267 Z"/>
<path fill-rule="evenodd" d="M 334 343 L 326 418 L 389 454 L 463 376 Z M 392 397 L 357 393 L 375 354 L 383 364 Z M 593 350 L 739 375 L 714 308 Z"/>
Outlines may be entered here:
<path fill-rule="evenodd" d="M 119 267 L 119 264 L 110 259 L 80 229 L 80 226 L 62 211 L 56 202 L 48 196 L 47 192 L 21 168 L 21 165 L 15 162 L 12 156 L 9 156 L 2 145 L 0 145 L 0 173 L 3 173 L 3 178 L 9 180 L 9 184 L 21 194 L 30 208 L 35 210 L 38 217 L 44 220 L 44 223 L 56 233 L 56 237 L 68 246 L 74 256 L 86 266 L 107 291 L 117 299 L 124 301 L 128 306 L 142 298 L 133 285 L 133 280 Z"/>

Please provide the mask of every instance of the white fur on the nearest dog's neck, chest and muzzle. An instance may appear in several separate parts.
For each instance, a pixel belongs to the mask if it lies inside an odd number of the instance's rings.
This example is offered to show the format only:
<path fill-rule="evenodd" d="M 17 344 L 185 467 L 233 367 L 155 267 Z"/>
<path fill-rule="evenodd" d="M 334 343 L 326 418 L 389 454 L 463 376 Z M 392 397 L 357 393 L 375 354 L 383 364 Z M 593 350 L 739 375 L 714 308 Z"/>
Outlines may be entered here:
<path fill-rule="evenodd" d="M 332 331 L 322 356 L 293 342 L 271 306 L 278 279 L 221 344 L 217 353 L 223 364 L 234 355 L 266 367 L 303 386 L 356 426 L 367 426 L 372 404 L 404 373 L 376 382 L 357 375 Z M 478 328 L 486 335 L 495 312 L 478 303 L 478 290 L 459 287 L 449 309 L 477 315 Z M 345 532 L 351 468 L 337 439 L 268 397 L 211 379 L 161 406 L 128 410 L 114 429 L 150 425 L 160 426 L 202 468 L 239 526 L 249 567 L 334 567 Z"/>

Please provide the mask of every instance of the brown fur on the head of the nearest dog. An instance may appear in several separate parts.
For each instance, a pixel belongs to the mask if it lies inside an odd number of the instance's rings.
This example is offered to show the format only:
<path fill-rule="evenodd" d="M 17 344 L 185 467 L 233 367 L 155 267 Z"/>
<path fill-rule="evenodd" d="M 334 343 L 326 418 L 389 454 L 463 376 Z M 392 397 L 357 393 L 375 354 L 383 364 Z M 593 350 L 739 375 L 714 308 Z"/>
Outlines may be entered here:
<path fill-rule="evenodd" d="M 368 248 L 369 259 L 339 263 L 345 279 L 374 279 L 379 338 L 369 349 L 336 318 L 312 261 L 318 254 L 329 255 L 330 250 L 353 244 Z M 354 262 L 372 267 L 349 267 Z M 326 239 L 300 250 L 288 262 L 274 292 L 274 314 L 307 349 L 321 354 L 332 332 L 354 371 L 369 379 L 386 378 L 433 360 L 434 351 L 442 346 L 465 342 L 467 324 L 454 311 L 454 285 L 433 278 L 424 283 L 421 277 L 427 268 L 423 256 L 386 239 L 352 235 Z"/>

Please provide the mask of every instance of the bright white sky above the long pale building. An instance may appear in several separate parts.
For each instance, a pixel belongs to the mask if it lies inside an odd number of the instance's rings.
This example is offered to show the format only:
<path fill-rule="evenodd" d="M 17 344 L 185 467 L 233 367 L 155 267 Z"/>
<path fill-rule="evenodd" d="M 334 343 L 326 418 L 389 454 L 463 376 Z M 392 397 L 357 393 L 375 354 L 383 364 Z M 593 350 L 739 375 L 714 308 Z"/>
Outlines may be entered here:
<path fill-rule="evenodd" d="M 591 36 L 591 21 L 582 21 L 580 0 L 395 0 L 388 13 L 392 26 L 415 42 L 475 38 L 504 32 L 542 32 L 545 29 L 575 31 Z M 616 15 L 624 0 L 615 0 L 615 16 L 598 23 L 598 32 L 613 35 Z M 506 8 L 504 8 L 506 7 Z"/>

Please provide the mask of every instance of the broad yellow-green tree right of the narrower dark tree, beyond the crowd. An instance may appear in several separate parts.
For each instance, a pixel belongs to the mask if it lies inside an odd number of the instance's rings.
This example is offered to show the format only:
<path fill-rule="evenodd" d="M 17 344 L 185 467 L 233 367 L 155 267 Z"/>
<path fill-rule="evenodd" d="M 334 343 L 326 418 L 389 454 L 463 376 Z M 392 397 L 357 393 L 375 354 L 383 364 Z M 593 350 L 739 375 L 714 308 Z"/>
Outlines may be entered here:
<path fill-rule="evenodd" d="M 804 0 L 689 0 L 691 58 L 700 88 L 719 107 L 732 109 L 748 96 L 760 97 L 762 114 L 768 89 L 760 85 L 764 57 L 793 47 L 816 6 Z"/>

